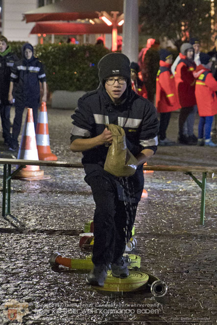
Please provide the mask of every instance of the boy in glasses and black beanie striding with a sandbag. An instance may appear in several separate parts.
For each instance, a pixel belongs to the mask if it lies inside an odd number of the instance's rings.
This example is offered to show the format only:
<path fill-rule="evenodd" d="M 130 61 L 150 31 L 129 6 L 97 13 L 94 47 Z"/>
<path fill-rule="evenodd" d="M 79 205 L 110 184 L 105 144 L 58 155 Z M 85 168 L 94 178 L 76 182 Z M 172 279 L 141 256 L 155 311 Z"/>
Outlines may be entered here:
<path fill-rule="evenodd" d="M 126 242 L 144 186 L 143 164 L 157 150 L 159 122 L 156 108 L 131 88 L 130 61 L 122 53 L 109 53 L 98 63 L 99 87 L 78 100 L 72 115 L 72 152 L 82 152 L 85 181 L 96 203 L 94 214 L 94 268 L 88 284 L 103 286 L 107 270 L 115 277 L 128 276 L 123 260 Z M 136 172 L 116 177 L 104 170 L 112 133 L 107 124 L 120 126 L 126 146 L 137 158 Z"/>

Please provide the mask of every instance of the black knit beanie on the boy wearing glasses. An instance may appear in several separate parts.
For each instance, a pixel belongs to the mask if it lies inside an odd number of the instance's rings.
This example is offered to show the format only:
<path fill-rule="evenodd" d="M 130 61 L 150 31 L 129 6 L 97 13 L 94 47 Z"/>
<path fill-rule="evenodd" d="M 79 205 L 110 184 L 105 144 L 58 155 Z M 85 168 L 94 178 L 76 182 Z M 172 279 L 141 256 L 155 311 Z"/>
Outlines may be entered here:
<path fill-rule="evenodd" d="M 125 77 L 130 83 L 130 60 L 122 53 L 106 54 L 99 61 L 98 69 L 99 81 L 103 86 L 105 79 L 113 76 Z"/>

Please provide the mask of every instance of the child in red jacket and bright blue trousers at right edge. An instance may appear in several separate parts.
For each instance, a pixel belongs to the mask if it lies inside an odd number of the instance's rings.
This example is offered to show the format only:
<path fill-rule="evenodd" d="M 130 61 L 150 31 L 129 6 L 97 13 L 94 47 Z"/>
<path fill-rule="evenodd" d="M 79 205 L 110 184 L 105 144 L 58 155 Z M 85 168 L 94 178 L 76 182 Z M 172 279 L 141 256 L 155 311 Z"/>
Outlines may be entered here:
<path fill-rule="evenodd" d="M 199 146 L 217 147 L 217 144 L 211 140 L 211 128 L 213 117 L 217 114 L 217 81 L 211 72 L 211 56 L 206 53 L 200 53 L 201 65 L 196 67 L 194 77 L 196 78 L 195 96 L 200 116 L 198 125 Z M 205 141 L 204 141 L 205 129 Z"/>

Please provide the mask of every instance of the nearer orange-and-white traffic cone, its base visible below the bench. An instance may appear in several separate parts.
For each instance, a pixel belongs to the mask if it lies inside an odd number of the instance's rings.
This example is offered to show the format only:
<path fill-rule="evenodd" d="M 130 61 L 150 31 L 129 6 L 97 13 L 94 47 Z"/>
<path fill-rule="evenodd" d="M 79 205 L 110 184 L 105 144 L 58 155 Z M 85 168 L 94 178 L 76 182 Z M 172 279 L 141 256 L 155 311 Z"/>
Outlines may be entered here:
<path fill-rule="evenodd" d="M 27 109 L 22 140 L 17 159 L 38 160 L 32 108 Z M 38 180 L 43 179 L 43 176 L 44 171 L 41 171 L 39 166 L 27 165 L 16 174 L 15 178 L 25 180 Z"/>

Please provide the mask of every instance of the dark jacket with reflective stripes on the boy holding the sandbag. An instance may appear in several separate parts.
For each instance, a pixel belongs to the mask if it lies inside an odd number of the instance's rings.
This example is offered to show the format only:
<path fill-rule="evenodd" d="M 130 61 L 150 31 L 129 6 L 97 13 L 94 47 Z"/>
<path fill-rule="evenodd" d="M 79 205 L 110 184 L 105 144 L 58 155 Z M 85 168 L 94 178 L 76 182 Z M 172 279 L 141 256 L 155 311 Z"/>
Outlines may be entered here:
<path fill-rule="evenodd" d="M 124 94 L 126 96 L 120 104 L 113 103 L 102 86 L 82 96 L 72 115 L 71 143 L 77 138 L 96 137 L 103 132 L 106 124 L 116 124 L 124 129 L 127 147 L 135 156 L 144 149 L 156 152 L 159 126 L 156 108 L 148 100 L 137 95 L 131 86 L 127 87 Z M 120 200 L 125 196 L 124 199 L 138 202 L 144 186 L 143 165 L 137 168 L 133 176 L 122 177 L 121 180 L 104 172 L 107 152 L 108 147 L 104 145 L 82 152 L 85 180 L 88 183 L 89 177 L 98 173 L 107 174 L 113 180 L 115 178 Z"/>

